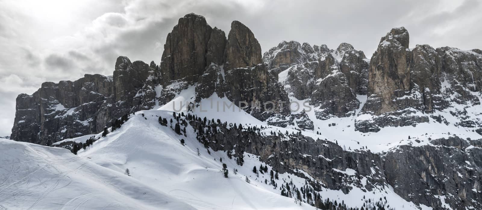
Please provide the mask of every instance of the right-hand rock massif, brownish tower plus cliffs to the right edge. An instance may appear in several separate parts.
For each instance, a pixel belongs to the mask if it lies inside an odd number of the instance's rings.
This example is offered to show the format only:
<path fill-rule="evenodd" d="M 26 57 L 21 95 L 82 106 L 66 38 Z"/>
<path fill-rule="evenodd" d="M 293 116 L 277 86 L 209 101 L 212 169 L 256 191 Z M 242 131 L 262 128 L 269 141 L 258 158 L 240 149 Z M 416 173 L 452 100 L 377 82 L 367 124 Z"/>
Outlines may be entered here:
<path fill-rule="evenodd" d="M 436 121 L 480 127 L 481 54 L 451 47 L 417 45 L 408 49 L 405 28 L 394 28 L 370 61 L 368 99 L 355 127 L 376 132 L 386 126 L 416 126 Z M 456 116 L 447 120 L 447 113 Z"/>

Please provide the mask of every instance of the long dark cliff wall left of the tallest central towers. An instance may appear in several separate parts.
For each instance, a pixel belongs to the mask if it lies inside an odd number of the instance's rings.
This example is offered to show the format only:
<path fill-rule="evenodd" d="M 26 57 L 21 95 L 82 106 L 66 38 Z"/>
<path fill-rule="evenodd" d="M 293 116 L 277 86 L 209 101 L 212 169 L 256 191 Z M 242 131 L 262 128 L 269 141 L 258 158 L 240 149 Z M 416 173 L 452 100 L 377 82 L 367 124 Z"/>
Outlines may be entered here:
<path fill-rule="evenodd" d="M 158 72 L 120 56 L 114 76 L 86 74 L 77 81 L 46 82 L 17 97 L 12 139 L 42 145 L 101 132 L 112 120 L 155 105 Z"/>

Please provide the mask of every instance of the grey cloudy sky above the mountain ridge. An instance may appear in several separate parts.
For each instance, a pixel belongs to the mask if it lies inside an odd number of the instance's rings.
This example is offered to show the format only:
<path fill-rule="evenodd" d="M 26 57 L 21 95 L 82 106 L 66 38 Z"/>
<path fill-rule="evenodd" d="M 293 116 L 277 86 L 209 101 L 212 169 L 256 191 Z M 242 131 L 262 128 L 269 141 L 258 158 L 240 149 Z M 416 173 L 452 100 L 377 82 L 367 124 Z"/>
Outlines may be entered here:
<path fill-rule="evenodd" d="M 111 75 L 117 56 L 156 63 L 179 17 L 201 14 L 228 34 L 248 26 L 263 52 L 296 40 L 367 57 L 390 28 L 404 26 L 410 47 L 482 48 L 479 0 L 0 0 L 0 136 L 10 135 L 15 98 L 44 81 Z"/>

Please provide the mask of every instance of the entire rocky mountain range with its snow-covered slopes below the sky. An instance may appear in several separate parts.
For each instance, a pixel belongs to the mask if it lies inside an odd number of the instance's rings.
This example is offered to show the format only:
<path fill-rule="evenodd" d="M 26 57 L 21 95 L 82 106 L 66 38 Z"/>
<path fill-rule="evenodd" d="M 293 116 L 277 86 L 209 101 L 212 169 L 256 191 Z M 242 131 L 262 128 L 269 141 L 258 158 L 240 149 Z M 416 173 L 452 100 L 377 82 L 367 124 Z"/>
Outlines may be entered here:
<path fill-rule="evenodd" d="M 160 63 L 120 56 L 16 98 L 10 138 L 28 143 L 0 140 L 0 209 L 482 209 L 481 83 L 481 50 L 410 49 L 403 27 L 370 59 L 262 54 L 241 22 L 226 36 L 187 14 Z"/>

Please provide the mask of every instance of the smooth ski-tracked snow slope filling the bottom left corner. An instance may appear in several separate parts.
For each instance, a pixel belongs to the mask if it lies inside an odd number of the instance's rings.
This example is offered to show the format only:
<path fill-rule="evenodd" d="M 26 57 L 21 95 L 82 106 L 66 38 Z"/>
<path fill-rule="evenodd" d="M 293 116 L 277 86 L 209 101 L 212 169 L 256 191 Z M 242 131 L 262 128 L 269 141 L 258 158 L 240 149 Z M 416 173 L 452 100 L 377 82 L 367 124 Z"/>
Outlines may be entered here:
<path fill-rule="evenodd" d="M 0 139 L 0 210 L 194 209 L 62 148 Z"/>

